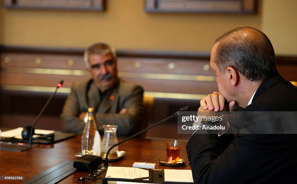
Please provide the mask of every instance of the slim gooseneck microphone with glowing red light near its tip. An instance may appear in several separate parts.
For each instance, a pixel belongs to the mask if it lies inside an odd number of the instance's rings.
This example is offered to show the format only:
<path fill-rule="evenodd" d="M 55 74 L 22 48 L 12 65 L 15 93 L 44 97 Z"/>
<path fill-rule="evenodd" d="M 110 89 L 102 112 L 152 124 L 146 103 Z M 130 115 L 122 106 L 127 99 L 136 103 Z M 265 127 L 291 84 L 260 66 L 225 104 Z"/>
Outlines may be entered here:
<path fill-rule="evenodd" d="M 39 112 L 37 118 L 34 120 L 33 125 L 32 126 L 27 126 L 23 129 L 22 131 L 22 137 L 24 140 L 28 140 L 29 139 L 29 145 L 32 145 L 32 136 L 34 134 L 34 127 L 37 123 L 37 121 L 39 120 L 40 116 L 42 115 L 43 111 L 45 110 L 45 108 L 48 106 L 48 104 L 50 103 L 50 101 L 52 100 L 53 96 L 55 96 L 58 88 L 62 87 L 63 84 L 63 80 L 61 80 L 59 83 L 57 83 L 57 87 L 55 92 L 52 93 L 52 95 L 50 96 L 50 98 L 48 99 L 48 101 L 45 103 L 45 105 L 43 106 L 42 110 Z M 30 132 L 30 134 L 29 134 Z M 29 134 L 29 135 L 28 135 Z"/>

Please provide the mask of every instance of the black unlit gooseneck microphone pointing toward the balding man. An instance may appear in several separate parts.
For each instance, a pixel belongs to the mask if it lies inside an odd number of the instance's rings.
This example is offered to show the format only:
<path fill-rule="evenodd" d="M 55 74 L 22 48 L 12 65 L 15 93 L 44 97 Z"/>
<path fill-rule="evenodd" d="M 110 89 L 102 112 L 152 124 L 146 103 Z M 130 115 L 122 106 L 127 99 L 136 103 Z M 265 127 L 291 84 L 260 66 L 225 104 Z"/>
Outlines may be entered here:
<path fill-rule="evenodd" d="M 119 144 L 121 144 L 121 143 L 123 143 L 123 142 L 125 142 L 125 141 L 127 141 L 127 140 L 129 140 L 129 139 L 131 139 L 131 138 L 133 138 L 133 137 L 135 137 L 135 136 L 138 136 L 139 134 L 142 134 L 143 132 L 145 132 L 145 131 L 147 131 L 147 130 L 153 128 L 154 126 L 157 126 L 157 125 L 159 125 L 160 123 L 163 123 L 163 122 L 166 121 L 166 120 L 169 120 L 169 119 L 171 119 L 171 118 L 173 118 L 173 117 L 176 117 L 176 116 L 178 116 L 178 115 L 180 115 L 180 114 L 182 114 L 182 113 L 184 113 L 184 112 L 186 112 L 186 111 L 188 111 L 188 110 L 189 110 L 189 106 L 183 107 L 183 108 L 179 109 L 177 112 L 175 112 L 173 115 L 169 116 L 168 118 L 165 118 L 164 120 L 159 121 L 158 123 L 155 123 L 154 125 L 149 126 L 149 127 L 146 128 L 146 129 L 143 129 L 142 131 L 140 131 L 140 132 L 138 132 L 138 133 L 136 133 L 136 134 L 134 134 L 134 135 L 132 135 L 132 136 L 130 136 L 130 137 L 124 139 L 124 140 L 122 140 L 121 142 L 118 142 L 118 143 L 116 143 L 115 145 L 112 145 L 112 146 L 107 150 L 107 152 L 106 152 L 106 157 L 105 157 L 104 166 L 108 166 L 108 153 L 110 152 L 110 150 L 111 150 L 112 148 L 114 148 L 114 147 L 116 147 L 117 145 L 119 145 Z"/>

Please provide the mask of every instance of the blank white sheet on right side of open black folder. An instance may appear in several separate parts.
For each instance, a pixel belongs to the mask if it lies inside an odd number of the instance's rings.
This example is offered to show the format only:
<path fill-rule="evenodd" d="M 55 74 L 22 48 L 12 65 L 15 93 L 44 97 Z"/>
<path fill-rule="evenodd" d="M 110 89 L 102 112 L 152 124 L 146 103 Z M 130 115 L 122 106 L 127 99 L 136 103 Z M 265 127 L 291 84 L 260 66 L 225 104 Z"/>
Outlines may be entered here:
<path fill-rule="evenodd" d="M 164 180 L 168 182 L 194 182 L 191 170 L 164 169 Z"/>

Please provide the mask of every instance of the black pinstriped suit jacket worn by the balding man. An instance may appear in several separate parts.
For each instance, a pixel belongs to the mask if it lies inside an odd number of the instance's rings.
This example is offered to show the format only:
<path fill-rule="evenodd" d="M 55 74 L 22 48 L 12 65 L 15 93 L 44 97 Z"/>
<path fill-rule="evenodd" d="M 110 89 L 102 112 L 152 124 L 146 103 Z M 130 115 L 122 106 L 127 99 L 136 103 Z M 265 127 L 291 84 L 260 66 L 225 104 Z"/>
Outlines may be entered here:
<path fill-rule="evenodd" d="M 297 88 L 277 74 L 244 111 L 297 111 Z M 192 135 L 186 149 L 195 183 L 297 183 L 296 134 L 230 136 Z"/>

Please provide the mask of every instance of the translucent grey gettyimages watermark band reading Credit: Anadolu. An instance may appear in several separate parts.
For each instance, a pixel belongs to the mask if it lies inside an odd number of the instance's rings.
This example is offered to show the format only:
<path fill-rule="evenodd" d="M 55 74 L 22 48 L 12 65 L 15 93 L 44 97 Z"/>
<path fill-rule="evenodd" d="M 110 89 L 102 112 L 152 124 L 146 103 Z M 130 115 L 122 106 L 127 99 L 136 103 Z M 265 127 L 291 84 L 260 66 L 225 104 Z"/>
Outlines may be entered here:
<path fill-rule="evenodd" d="M 178 134 L 297 134 L 295 111 L 184 112 Z"/>

